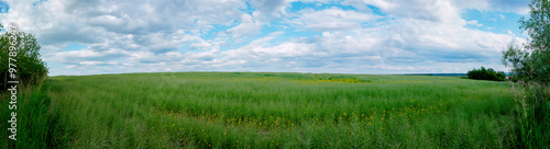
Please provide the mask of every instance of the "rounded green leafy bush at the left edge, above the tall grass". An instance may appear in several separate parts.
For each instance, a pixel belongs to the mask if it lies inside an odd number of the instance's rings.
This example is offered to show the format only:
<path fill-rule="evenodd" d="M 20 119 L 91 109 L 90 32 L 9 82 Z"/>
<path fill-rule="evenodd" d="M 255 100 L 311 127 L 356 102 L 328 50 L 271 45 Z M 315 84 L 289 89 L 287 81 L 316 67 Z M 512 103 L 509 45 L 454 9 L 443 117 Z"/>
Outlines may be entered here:
<path fill-rule="evenodd" d="M 3 26 L 0 24 L 0 28 Z M 8 28 L 7 28 L 8 30 Z M 14 36 L 10 37 L 10 36 Z M 11 68 L 15 68 L 16 78 L 12 79 L 10 77 L 10 43 L 16 43 L 16 56 L 12 57 L 16 61 L 11 61 L 14 65 Z M 0 35 L 0 88 L 7 89 L 8 80 L 18 80 L 23 84 L 36 84 L 42 82 L 47 76 L 47 67 L 41 59 L 40 55 L 41 46 L 36 42 L 34 35 L 18 32 L 13 35 L 10 32 L 4 32 Z"/>

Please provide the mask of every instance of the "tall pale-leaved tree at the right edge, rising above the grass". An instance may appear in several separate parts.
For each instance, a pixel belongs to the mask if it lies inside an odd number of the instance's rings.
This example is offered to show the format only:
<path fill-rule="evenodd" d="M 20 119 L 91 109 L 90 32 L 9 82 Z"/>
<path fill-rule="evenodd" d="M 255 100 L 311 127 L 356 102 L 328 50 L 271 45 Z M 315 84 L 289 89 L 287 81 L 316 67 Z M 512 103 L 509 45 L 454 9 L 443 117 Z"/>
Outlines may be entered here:
<path fill-rule="evenodd" d="M 550 3 L 532 0 L 530 18 L 521 18 L 521 30 L 529 35 L 525 48 L 508 45 L 503 62 L 512 68 L 513 78 L 548 85 L 550 81 Z"/>

